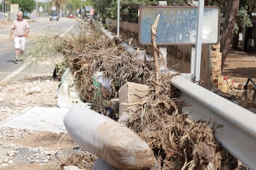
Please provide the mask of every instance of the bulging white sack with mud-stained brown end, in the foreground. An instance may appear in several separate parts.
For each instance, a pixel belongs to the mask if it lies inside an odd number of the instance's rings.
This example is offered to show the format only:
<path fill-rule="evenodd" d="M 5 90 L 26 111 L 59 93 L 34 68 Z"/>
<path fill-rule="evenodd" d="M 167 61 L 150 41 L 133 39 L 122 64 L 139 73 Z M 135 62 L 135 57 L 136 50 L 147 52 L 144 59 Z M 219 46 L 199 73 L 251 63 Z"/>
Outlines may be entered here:
<path fill-rule="evenodd" d="M 119 169 L 155 168 L 147 143 L 128 127 L 89 108 L 74 106 L 64 125 L 76 144 Z"/>

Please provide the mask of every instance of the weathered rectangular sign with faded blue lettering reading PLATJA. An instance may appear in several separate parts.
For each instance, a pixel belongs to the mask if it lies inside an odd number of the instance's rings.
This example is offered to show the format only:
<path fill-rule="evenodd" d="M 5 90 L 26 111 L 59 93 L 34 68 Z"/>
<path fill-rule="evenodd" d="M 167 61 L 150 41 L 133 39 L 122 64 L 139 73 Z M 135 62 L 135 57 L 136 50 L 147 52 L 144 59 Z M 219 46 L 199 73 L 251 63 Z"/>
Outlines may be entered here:
<path fill-rule="evenodd" d="M 139 9 L 139 42 L 151 44 L 151 25 L 160 14 L 156 44 L 177 45 L 196 42 L 197 7 L 143 6 Z M 220 34 L 220 10 L 205 7 L 203 10 L 202 44 L 218 44 Z"/>

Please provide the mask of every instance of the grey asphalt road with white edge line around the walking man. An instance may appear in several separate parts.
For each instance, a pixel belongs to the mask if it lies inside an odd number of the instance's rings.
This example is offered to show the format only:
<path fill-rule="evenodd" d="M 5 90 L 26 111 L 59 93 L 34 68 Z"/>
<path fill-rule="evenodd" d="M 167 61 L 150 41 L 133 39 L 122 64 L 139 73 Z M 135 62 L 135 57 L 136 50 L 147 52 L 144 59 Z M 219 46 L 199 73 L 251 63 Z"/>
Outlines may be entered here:
<path fill-rule="evenodd" d="M 59 21 L 49 21 L 48 17 L 38 17 L 35 20 L 28 20 L 30 23 L 30 33 L 27 38 L 26 49 L 33 46 L 36 40 L 30 39 L 32 36 L 41 34 L 59 34 L 65 36 L 66 34 L 79 33 L 79 24 L 77 20 L 72 18 L 60 18 Z M 10 41 L 11 24 L 0 27 L 0 84 L 8 83 L 15 77 L 19 78 L 23 72 L 31 71 L 45 71 L 52 68 L 40 68 L 39 66 L 30 65 L 30 63 L 15 64 L 14 42 Z M 26 52 L 26 51 L 25 51 Z M 26 54 L 25 54 L 26 55 Z M 30 67 L 28 67 L 30 65 Z M 36 68 L 38 67 L 38 68 Z"/>

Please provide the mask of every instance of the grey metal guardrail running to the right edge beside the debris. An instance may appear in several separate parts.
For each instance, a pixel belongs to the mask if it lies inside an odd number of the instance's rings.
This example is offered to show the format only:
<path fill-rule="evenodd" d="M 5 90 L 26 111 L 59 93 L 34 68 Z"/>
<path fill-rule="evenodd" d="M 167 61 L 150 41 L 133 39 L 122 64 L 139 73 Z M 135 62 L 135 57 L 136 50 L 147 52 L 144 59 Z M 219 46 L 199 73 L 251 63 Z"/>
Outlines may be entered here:
<path fill-rule="evenodd" d="M 194 120 L 210 119 L 211 125 L 221 124 L 214 133 L 215 138 L 231 155 L 240 160 L 249 169 L 256 167 L 256 115 L 220 95 L 198 86 L 195 83 L 175 76 L 171 84 L 179 89 L 178 100 L 184 100 Z"/>

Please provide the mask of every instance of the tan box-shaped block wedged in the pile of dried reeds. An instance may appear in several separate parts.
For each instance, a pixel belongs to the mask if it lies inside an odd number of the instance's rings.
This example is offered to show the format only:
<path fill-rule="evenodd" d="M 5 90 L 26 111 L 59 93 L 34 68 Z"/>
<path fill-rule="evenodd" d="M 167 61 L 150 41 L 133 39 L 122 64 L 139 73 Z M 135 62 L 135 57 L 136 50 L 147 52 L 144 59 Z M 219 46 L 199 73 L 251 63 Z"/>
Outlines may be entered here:
<path fill-rule="evenodd" d="M 149 87 L 144 84 L 127 82 L 119 89 L 119 116 L 126 110 L 126 105 L 121 103 L 134 103 L 145 100 L 145 96 L 149 94 Z"/>

